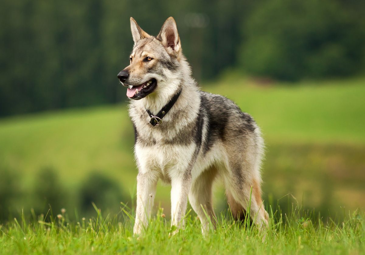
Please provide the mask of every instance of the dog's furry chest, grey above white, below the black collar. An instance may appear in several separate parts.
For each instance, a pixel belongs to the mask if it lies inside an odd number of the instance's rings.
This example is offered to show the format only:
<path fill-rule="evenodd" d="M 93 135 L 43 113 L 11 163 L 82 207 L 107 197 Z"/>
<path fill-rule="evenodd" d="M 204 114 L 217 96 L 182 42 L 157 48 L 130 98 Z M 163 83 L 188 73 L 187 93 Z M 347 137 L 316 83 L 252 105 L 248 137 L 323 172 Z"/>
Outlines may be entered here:
<path fill-rule="evenodd" d="M 161 178 L 170 180 L 186 171 L 196 150 L 191 132 L 193 125 L 186 125 L 186 118 L 170 111 L 162 124 L 152 126 L 149 116 L 139 108 L 132 108 L 130 115 L 136 132 L 135 157 L 139 171 L 158 171 Z M 181 109 L 180 112 L 184 112 Z"/>

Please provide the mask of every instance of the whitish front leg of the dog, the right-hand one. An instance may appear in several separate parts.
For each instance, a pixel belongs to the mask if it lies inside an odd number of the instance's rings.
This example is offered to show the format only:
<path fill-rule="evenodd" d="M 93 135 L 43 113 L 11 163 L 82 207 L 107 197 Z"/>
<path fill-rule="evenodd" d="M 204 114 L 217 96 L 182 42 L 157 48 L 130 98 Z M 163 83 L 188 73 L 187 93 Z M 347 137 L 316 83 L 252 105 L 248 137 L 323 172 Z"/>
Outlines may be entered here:
<path fill-rule="evenodd" d="M 178 175 L 171 180 L 171 226 L 180 228 L 184 225 L 191 180 L 190 172 Z M 177 231 L 178 229 L 172 234 Z"/>

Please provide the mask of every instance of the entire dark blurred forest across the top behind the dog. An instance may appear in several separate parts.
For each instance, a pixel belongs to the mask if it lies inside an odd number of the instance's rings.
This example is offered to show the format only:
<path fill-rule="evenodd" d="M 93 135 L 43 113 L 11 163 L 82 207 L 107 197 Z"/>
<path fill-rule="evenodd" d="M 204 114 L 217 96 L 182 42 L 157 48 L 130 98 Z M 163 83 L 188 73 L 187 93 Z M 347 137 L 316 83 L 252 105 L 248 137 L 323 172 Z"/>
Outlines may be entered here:
<path fill-rule="evenodd" d="M 3 0 L 0 116 L 126 100 L 116 74 L 132 48 L 129 17 L 156 35 L 177 21 L 198 80 L 237 67 L 297 80 L 364 70 L 363 1 Z"/>

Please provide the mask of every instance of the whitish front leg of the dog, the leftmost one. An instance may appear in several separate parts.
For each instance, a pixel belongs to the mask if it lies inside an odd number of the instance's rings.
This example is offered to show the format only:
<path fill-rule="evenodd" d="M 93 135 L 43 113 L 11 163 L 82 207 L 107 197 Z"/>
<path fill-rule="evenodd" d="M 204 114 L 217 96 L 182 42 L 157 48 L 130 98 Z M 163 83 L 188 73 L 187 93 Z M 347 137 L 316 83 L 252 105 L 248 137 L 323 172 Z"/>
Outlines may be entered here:
<path fill-rule="evenodd" d="M 156 194 L 158 178 L 151 172 L 137 175 L 137 209 L 133 234 L 141 234 L 142 227 L 147 226 L 151 216 L 151 208 Z"/>

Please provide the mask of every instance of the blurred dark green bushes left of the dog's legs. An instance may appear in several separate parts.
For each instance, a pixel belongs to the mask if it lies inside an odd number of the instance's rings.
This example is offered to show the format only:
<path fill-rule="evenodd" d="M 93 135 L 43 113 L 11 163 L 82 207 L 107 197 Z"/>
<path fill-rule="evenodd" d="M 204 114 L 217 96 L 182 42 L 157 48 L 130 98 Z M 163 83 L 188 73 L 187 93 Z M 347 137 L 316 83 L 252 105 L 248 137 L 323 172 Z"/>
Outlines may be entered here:
<path fill-rule="evenodd" d="M 91 172 L 84 180 L 78 180 L 78 188 L 72 190 L 67 189 L 51 167 L 42 168 L 27 188 L 20 186 L 23 178 L 29 182 L 30 176 L 6 170 L 2 170 L 0 176 L 0 222 L 21 211 L 55 217 L 62 208 L 72 208 L 82 216 L 89 216 L 94 212 L 93 204 L 108 213 L 118 212 L 120 203 L 131 204 L 130 196 L 119 183 L 101 173 Z M 71 220 L 75 220 L 75 216 Z"/>

